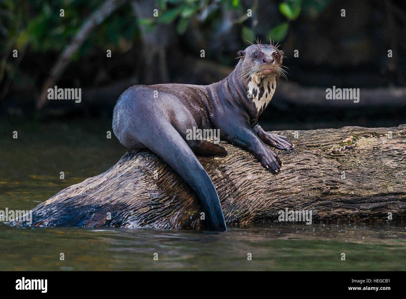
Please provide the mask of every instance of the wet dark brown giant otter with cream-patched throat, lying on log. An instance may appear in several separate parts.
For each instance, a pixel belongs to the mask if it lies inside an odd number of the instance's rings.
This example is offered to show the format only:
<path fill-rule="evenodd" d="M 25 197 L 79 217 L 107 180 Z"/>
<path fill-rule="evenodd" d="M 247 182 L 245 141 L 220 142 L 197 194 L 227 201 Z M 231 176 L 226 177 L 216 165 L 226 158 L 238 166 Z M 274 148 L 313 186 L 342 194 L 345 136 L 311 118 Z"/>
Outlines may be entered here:
<path fill-rule="evenodd" d="M 220 139 L 252 153 L 273 173 L 281 160 L 265 145 L 291 150 L 286 137 L 264 131 L 258 117 L 275 92 L 283 51 L 272 44 L 250 45 L 229 76 L 211 85 L 135 85 L 124 91 L 113 113 L 113 131 L 130 150 L 149 148 L 197 193 L 208 228 L 227 230 L 216 189 L 195 154 L 227 155 L 206 140 L 188 140 L 187 130 L 219 129 Z"/>

